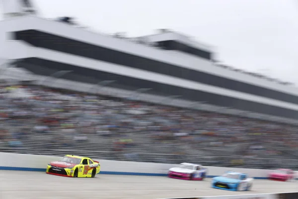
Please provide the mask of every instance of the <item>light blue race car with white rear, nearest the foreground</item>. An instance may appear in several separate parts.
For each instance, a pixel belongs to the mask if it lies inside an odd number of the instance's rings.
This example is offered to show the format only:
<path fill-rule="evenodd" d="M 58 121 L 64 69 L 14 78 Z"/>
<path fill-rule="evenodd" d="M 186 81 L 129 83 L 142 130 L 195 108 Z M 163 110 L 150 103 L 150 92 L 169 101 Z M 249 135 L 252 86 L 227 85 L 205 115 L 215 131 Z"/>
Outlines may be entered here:
<path fill-rule="evenodd" d="M 253 178 L 247 174 L 226 171 L 222 176 L 212 179 L 212 188 L 228 191 L 250 191 L 252 188 Z"/>

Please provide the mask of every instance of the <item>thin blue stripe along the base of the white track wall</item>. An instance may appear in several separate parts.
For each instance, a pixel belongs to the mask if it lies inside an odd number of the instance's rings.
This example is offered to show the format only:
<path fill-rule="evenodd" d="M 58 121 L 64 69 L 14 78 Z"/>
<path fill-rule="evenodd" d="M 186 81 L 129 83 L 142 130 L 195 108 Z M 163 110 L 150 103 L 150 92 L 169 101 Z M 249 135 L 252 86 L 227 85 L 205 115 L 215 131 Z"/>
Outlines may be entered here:
<path fill-rule="evenodd" d="M 26 168 L 26 167 L 0 167 L 0 170 L 46 172 L 46 169 Z M 167 174 L 137 173 L 137 172 L 115 172 L 115 171 L 101 171 L 99 174 L 131 175 L 131 176 L 167 176 Z M 214 177 L 217 177 L 217 176 L 207 176 L 207 178 L 214 178 Z M 267 178 L 266 177 L 254 177 L 254 179 L 267 179 Z"/>

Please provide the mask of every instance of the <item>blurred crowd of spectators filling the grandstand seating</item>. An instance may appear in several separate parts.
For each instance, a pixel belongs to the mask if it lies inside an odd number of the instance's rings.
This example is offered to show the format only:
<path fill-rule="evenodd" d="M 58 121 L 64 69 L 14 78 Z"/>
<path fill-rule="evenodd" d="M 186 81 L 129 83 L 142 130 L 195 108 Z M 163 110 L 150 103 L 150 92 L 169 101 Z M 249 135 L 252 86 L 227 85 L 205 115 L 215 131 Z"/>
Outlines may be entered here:
<path fill-rule="evenodd" d="M 0 120 L 0 151 L 298 168 L 297 127 L 214 112 L 2 84 Z"/>

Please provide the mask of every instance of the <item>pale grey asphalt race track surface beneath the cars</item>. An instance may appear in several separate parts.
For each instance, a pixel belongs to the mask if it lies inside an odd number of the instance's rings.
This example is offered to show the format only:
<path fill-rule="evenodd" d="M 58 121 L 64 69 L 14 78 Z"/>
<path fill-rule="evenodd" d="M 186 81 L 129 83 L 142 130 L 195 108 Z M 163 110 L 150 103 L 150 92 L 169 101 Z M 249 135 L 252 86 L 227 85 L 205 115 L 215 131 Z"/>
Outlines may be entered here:
<path fill-rule="evenodd" d="M 298 182 L 255 180 L 252 191 L 232 192 L 212 189 L 210 181 L 100 174 L 66 178 L 44 172 L 0 171 L 0 199 L 161 199 L 298 191 Z"/>

